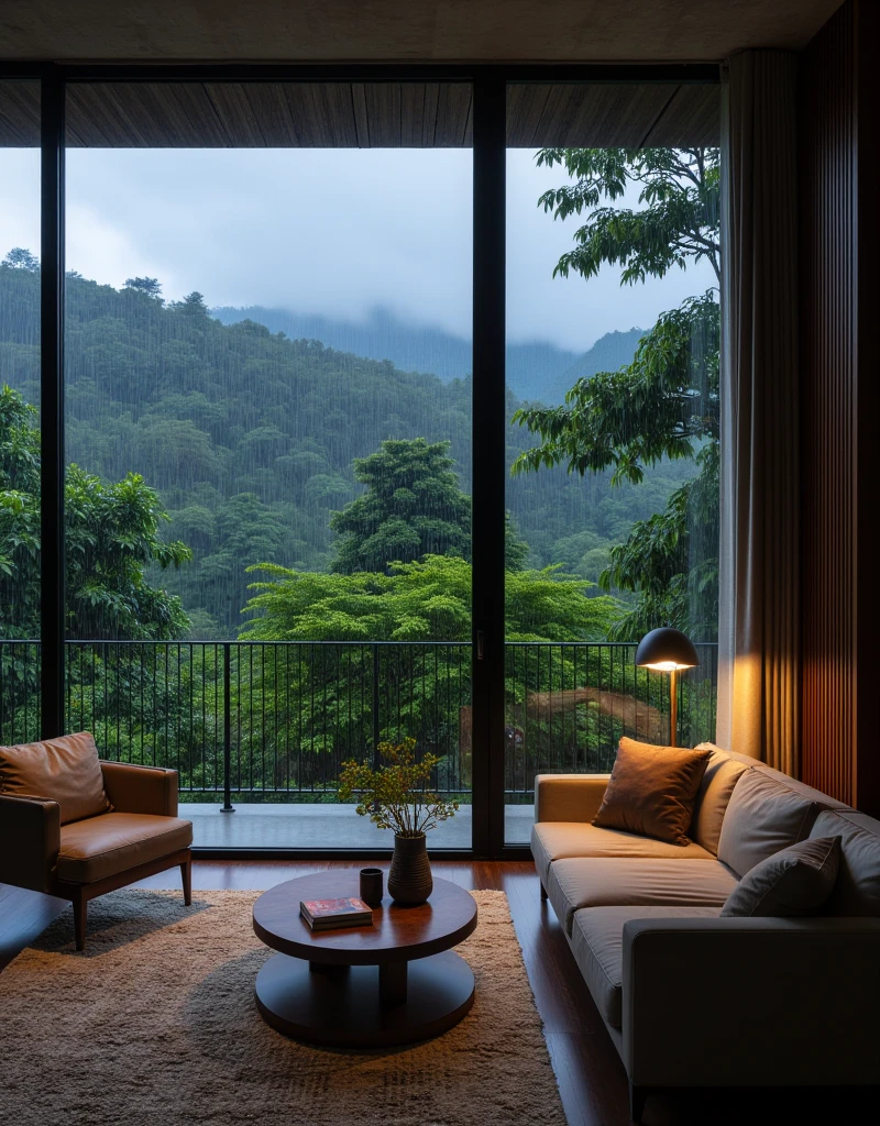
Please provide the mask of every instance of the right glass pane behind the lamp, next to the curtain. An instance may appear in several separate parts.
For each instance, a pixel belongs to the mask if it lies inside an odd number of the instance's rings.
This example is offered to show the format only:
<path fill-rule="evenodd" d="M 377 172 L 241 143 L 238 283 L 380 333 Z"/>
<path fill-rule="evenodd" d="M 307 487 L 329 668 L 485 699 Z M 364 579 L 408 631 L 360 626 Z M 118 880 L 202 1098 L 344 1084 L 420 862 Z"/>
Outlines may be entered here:
<path fill-rule="evenodd" d="M 534 777 L 714 732 L 719 88 L 508 87 L 505 841 Z"/>

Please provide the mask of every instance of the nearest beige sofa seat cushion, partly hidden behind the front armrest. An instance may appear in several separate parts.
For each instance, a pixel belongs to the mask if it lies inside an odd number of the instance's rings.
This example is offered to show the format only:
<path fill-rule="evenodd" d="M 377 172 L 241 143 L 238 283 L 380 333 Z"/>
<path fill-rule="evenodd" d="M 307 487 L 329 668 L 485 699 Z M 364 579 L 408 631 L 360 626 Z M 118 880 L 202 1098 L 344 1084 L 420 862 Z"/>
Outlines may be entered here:
<path fill-rule="evenodd" d="M 571 951 L 612 1028 L 623 1025 L 623 924 L 631 919 L 717 919 L 718 908 L 586 908 L 575 914 Z"/>

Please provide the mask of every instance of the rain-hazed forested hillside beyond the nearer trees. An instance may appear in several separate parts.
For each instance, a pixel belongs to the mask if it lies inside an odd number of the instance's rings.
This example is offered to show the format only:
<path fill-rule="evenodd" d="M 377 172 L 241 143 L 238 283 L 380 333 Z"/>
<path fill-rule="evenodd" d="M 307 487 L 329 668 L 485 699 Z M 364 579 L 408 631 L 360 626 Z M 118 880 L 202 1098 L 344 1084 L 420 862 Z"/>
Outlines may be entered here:
<path fill-rule="evenodd" d="M 0 267 L 0 384 L 35 405 L 38 289 L 35 262 Z M 140 473 L 158 490 L 171 516 L 162 536 L 194 557 L 155 579 L 183 599 L 193 636 L 235 635 L 248 565 L 329 570 L 331 513 L 362 491 L 353 461 L 383 440 L 447 440 L 470 490 L 469 376 L 402 370 L 254 321 L 222 324 L 199 294 L 166 304 L 78 276 L 68 283 L 66 325 L 68 459 L 112 482 Z M 619 364 L 638 331 L 615 334 Z M 518 405 L 508 395 L 508 420 Z M 508 426 L 508 464 L 530 443 Z M 595 581 L 608 547 L 691 473 L 664 465 L 638 488 L 615 489 L 607 474 L 569 477 L 565 468 L 512 480 L 507 506 L 528 565 L 565 563 Z"/>

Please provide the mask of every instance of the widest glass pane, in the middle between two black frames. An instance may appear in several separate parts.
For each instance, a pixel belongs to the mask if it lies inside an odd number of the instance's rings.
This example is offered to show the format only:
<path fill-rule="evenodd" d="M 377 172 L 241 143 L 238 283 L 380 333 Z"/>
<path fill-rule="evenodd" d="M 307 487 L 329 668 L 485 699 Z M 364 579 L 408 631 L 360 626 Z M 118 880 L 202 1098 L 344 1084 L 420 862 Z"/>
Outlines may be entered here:
<path fill-rule="evenodd" d="M 390 846 L 337 777 L 412 739 L 470 848 L 470 99 L 69 87 L 69 723 L 197 846 Z"/>

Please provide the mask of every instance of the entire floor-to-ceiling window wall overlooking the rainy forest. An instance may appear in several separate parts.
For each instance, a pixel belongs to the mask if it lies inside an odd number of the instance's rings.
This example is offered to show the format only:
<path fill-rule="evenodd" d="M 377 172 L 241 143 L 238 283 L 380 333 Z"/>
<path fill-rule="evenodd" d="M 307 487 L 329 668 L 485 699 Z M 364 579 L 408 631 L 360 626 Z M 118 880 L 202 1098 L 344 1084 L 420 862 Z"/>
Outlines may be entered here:
<path fill-rule="evenodd" d="M 55 714 L 177 767 L 201 846 L 386 847 L 336 779 L 412 739 L 461 806 L 432 846 L 516 847 L 536 772 L 668 739 L 668 681 L 633 660 L 652 625 L 700 650 L 679 741 L 713 734 L 717 75 L 512 69 L 505 96 L 497 71 L 295 70 L 45 79 Z M 0 86 L 5 739 L 38 732 L 41 652 L 61 682 L 16 399 L 39 406 L 37 88 Z"/>

